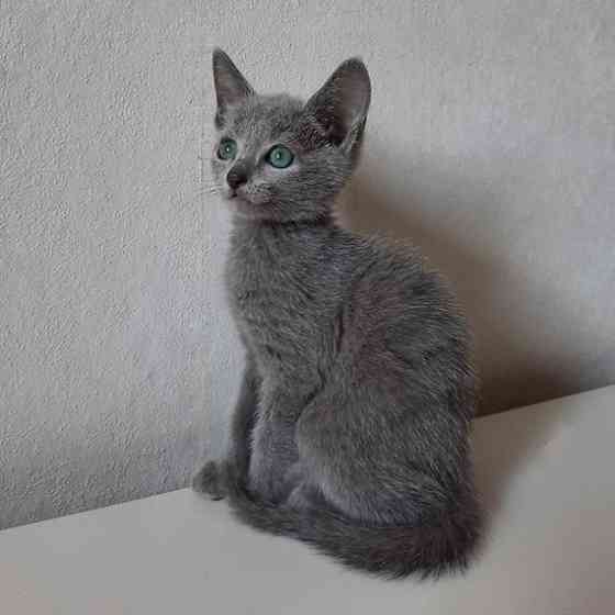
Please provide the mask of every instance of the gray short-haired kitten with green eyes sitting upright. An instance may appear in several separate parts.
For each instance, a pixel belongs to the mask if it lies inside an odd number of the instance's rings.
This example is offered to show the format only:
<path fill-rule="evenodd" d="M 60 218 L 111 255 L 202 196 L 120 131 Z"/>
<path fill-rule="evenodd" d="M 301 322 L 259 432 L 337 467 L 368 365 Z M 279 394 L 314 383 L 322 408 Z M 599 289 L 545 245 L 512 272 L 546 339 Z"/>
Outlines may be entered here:
<path fill-rule="evenodd" d="M 370 102 L 359 59 L 303 103 L 255 93 L 216 49 L 212 159 L 234 214 L 230 302 L 246 350 L 227 459 L 194 487 L 241 519 L 388 577 L 463 568 L 480 511 L 477 378 L 443 279 L 339 227 Z"/>

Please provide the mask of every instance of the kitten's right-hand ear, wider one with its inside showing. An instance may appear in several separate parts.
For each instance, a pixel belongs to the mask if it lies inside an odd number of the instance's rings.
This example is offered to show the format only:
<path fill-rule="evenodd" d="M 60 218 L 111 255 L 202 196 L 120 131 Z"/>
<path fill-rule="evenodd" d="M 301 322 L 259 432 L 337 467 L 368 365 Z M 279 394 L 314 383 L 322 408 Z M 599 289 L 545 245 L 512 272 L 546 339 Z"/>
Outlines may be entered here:
<path fill-rule="evenodd" d="M 327 138 L 356 163 L 358 158 L 371 85 L 359 58 L 340 64 L 326 83 L 305 103 L 304 112 L 325 130 Z"/>

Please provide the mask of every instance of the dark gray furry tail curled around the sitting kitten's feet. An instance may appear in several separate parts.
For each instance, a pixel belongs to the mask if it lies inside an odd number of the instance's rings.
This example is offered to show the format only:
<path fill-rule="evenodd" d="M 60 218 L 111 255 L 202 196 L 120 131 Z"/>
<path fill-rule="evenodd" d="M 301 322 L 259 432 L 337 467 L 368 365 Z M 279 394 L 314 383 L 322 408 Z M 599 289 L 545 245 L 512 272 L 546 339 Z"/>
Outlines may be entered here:
<path fill-rule="evenodd" d="M 391 579 L 463 570 L 479 539 L 480 515 L 473 495 L 437 525 L 370 527 L 327 511 L 298 513 L 268 504 L 254 499 L 233 469 L 227 478 L 231 506 L 241 521 L 261 532 L 302 540 L 350 568 Z"/>

